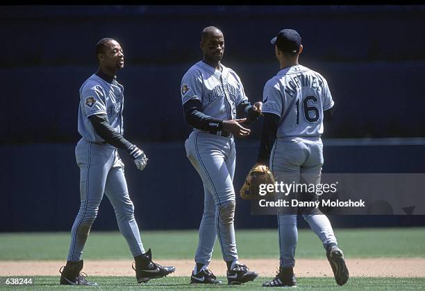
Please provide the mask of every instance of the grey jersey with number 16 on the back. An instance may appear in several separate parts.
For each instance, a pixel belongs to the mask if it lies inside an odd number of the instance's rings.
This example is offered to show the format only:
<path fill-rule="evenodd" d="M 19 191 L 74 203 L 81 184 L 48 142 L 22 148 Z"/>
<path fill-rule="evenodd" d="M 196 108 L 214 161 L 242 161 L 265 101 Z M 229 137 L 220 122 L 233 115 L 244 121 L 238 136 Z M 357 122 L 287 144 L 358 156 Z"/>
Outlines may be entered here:
<path fill-rule="evenodd" d="M 301 65 L 282 69 L 264 87 L 262 112 L 281 118 L 276 137 L 321 136 L 323 112 L 331 107 L 325 78 Z"/>

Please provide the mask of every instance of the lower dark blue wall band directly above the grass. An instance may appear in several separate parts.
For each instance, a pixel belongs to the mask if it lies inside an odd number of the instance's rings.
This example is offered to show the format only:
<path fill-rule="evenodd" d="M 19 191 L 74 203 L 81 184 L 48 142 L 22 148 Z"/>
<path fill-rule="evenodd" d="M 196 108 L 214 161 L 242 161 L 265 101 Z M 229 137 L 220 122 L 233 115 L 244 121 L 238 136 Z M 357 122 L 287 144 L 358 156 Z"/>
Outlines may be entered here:
<path fill-rule="evenodd" d="M 425 173 L 424 139 L 325 140 L 324 173 Z M 362 145 L 363 144 L 363 145 Z M 397 145 L 398 144 L 398 145 Z M 254 164 L 258 141 L 238 141 L 235 188 Z M 135 215 L 142 229 L 192 229 L 199 226 L 203 188 L 185 157 L 183 141 L 144 143 L 149 164 L 143 172 L 122 152 Z M 69 230 L 79 206 L 78 167 L 72 144 L 2 145 L 0 231 Z M 403 195 L 403 193 L 401 193 Z M 425 225 L 425 215 L 331 217 L 336 227 Z M 274 228 L 276 218 L 251 215 L 249 202 L 237 198 L 235 224 Z M 305 222 L 300 223 L 305 227 Z M 115 230 L 105 197 L 95 229 Z"/>

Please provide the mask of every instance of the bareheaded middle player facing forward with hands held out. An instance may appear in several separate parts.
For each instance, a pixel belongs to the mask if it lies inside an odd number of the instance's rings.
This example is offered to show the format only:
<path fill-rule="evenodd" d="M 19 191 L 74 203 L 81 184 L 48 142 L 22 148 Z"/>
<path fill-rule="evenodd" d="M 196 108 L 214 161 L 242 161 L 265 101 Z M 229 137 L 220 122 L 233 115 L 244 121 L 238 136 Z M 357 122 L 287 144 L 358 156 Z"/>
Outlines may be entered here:
<path fill-rule="evenodd" d="M 201 176 L 204 209 L 199 245 L 191 283 L 222 283 L 208 269 L 218 237 L 227 264 L 228 284 L 252 281 L 258 274 L 238 260 L 233 219 L 235 215 L 234 136 L 248 136 L 242 123 L 260 116 L 262 103 L 251 105 L 238 75 L 222 63 L 223 33 L 213 26 L 201 35 L 203 60 L 194 64 L 181 80 L 186 121 L 194 130 L 185 141 L 188 159 Z M 236 119 L 237 114 L 246 118 Z"/>

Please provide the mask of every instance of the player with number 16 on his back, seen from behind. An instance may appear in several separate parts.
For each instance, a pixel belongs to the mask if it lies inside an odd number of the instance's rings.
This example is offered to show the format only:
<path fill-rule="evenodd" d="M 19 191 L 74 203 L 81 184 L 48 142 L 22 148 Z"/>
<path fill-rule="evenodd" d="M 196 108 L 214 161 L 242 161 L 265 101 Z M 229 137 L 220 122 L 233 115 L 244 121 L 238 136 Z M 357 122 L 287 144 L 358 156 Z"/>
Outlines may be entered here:
<path fill-rule="evenodd" d="M 286 184 L 319 184 L 322 175 L 323 121 L 333 116 L 333 99 L 325 78 L 301 66 L 301 37 L 292 29 L 281 30 L 272 39 L 281 66 L 276 76 L 267 81 L 263 91 L 264 123 L 257 164 L 267 165 L 277 182 Z M 278 196 L 288 201 L 317 201 L 316 193 L 290 193 Z M 347 283 L 349 272 L 344 255 L 337 245 L 331 223 L 315 207 L 297 206 L 278 213 L 280 268 L 276 278 L 264 287 L 296 286 L 293 267 L 297 246 L 297 213 L 300 212 L 326 249 L 335 280 Z"/>

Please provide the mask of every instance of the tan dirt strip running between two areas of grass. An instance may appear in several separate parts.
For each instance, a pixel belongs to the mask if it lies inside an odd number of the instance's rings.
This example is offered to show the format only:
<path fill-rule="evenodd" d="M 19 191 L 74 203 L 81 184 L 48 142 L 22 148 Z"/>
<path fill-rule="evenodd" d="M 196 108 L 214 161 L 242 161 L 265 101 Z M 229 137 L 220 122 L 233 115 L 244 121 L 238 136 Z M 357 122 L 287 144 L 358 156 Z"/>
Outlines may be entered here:
<path fill-rule="evenodd" d="M 350 276 L 367 277 L 425 277 L 425 258 L 349 258 L 346 260 Z M 91 276 L 134 276 L 130 260 L 84 262 L 84 272 Z M 174 265 L 173 276 L 189 276 L 192 260 L 158 260 L 161 265 Z M 260 276 L 274 276 L 278 267 L 277 259 L 249 259 L 242 263 Z M 0 261 L 0 276 L 49 276 L 58 275 L 63 261 Z M 210 269 L 216 275 L 225 275 L 223 261 L 213 260 Z M 294 268 L 297 276 L 333 276 L 326 259 L 298 259 Z"/>

